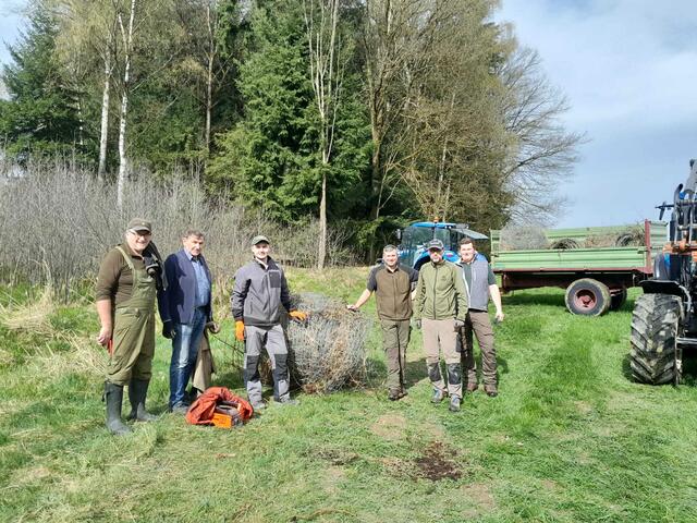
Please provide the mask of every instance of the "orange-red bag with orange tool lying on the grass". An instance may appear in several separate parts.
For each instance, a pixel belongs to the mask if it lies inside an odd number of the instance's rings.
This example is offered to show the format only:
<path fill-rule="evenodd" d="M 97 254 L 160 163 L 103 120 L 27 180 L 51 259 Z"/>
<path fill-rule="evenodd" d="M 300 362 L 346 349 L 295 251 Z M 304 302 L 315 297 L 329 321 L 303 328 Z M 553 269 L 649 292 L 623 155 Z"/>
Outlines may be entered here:
<path fill-rule="evenodd" d="M 253 414 L 254 409 L 248 401 L 225 387 L 210 387 L 188 408 L 186 422 L 233 428 L 246 423 Z"/>

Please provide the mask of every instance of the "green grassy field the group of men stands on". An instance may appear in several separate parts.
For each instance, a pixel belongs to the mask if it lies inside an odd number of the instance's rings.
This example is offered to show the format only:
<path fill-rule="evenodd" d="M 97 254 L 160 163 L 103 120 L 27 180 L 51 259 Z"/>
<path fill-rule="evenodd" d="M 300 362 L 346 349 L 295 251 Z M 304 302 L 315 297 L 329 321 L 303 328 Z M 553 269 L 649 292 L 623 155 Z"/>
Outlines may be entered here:
<path fill-rule="evenodd" d="M 290 281 L 353 301 L 365 273 L 294 270 Z M 562 291 L 505 296 L 500 396 L 467 396 L 457 414 L 429 403 L 418 333 L 409 394 L 388 401 L 376 332 L 366 388 L 298 394 L 242 429 L 193 427 L 164 413 L 170 349 L 159 340 L 149 405 L 162 416 L 114 438 L 91 304 L 5 289 L 0 520 L 697 521 L 697 370 L 688 362 L 680 388 L 629 380 L 636 295 L 594 319 L 566 313 Z M 241 392 L 232 350 L 216 340 L 213 351 L 217 384 Z"/>

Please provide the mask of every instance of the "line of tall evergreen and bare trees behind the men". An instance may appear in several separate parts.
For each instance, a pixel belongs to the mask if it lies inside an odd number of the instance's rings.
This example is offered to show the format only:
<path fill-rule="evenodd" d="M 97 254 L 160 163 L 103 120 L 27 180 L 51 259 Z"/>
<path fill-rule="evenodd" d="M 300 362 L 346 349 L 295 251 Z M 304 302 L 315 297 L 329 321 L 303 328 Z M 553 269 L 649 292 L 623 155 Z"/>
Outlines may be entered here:
<path fill-rule="evenodd" d="M 545 220 L 582 137 L 496 0 L 29 0 L 0 139 L 118 187 L 199 180 L 366 254 L 398 224 Z"/>

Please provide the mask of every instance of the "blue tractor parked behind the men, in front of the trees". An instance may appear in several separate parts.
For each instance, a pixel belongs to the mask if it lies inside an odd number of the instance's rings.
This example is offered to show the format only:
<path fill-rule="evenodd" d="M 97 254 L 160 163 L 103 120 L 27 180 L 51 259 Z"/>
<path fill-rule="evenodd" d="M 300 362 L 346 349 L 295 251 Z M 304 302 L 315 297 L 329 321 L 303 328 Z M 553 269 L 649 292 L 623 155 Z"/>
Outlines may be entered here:
<path fill-rule="evenodd" d="M 428 262 L 425 245 L 433 239 L 445 246 L 443 257 L 449 262 L 457 262 L 460 240 L 469 236 L 473 240 L 487 240 L 488 236 L 469 229 L 467 223 L 449 223 L 444 221 L 415 221 L 396 231 L 400 241 L 398 252 L 400 263 L 419 270 Z"/>

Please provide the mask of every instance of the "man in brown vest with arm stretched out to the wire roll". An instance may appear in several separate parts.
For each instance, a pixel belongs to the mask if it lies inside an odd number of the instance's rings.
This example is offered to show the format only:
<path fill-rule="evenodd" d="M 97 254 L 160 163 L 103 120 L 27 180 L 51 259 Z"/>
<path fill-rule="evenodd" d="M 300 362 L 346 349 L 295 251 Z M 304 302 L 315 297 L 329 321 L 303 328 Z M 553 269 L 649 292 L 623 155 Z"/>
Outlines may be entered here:
<path fill-rule="evenodd" d="M 412 291 L 418 272 L 399 264 L 394 245 L 382 250 L 382 264 L 368 276 L 368 283 L 356 303 L 346 305 L 358 311 L 375 292 L 378 317 L 382 327 L 382 348 L 388 366 L 388 399 L 396 401 L 406 396 L 406 345 L 409 343 L 412 317 Z"/>

